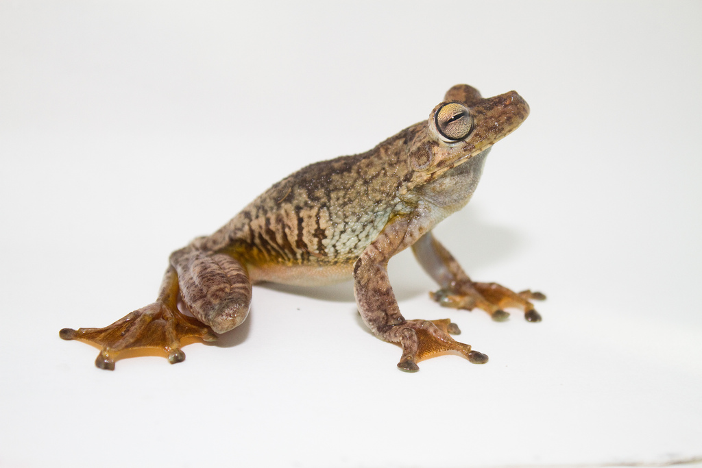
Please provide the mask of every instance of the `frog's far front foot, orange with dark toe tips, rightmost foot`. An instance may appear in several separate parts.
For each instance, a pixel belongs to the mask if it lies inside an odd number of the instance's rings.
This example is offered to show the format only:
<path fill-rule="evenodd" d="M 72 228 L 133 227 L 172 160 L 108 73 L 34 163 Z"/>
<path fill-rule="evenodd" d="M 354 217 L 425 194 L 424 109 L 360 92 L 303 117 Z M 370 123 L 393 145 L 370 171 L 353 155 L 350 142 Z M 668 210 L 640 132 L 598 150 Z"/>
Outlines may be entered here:
<path fill-rule="evenodd" d="M 499 285 L 498 283 L 476 283 L 465 281 L 456 283 L 451 288 L 440 289 L 429 293 L 433 300 L 444 307 L 453 309 L 483 309 L 490 314 L 494 321 L 505 321 L 510 314 L 504 309 L 514 307 L 524 311 L 524 319 L 530 322 L 541 321 L 541 315 L 536 312 L 531 300 L 545 300 L 542 293 L 524 290 L 521 293 Z"/>

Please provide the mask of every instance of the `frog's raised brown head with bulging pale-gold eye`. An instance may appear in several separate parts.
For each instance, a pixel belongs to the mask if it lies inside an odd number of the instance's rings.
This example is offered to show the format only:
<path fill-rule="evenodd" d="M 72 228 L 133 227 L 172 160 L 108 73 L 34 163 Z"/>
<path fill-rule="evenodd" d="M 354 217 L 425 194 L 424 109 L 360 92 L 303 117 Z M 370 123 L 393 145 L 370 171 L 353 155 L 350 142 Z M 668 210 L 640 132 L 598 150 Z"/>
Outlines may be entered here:
<path fill-rule="evenodd" d="M 409 152 L 415 182 L 433 180 L 502 140 L 529 116 L 515 91 L 482 98 L 466 84 L 453 86 L 432 110 Z"/>

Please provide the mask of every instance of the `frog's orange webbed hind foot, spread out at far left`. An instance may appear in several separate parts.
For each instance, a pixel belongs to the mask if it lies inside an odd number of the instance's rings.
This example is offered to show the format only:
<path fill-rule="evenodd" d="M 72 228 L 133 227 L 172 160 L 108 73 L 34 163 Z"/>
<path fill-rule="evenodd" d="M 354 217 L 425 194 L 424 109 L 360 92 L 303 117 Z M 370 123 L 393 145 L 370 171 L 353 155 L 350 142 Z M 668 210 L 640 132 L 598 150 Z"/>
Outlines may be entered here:
<path fill-rule="evenodd" d="M 95 366 L 105 370 L 114 370 L 114 361 L 128 349 L 162 349 L 168 362 L 175 364 L 185 361 L 180 349 L 183 338 L 217 340 L 208 326 L 161 302 L 130 312 L 105 328 L 63 328 L 58 335 L 63 340 L 84 340 L 102 347 Z"/>

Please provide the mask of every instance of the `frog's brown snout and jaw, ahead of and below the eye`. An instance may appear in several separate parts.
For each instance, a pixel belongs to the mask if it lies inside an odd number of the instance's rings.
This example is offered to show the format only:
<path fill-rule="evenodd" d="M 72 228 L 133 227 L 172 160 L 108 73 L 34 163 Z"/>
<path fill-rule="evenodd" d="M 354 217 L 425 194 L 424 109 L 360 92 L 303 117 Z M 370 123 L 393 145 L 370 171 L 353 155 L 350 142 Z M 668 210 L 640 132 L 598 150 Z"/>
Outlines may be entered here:
<path fill-rule="evenodd" d="M 529 105 L 516 91 L 481 100 L 470 107 L 472 130 L 461 141 L 446 144 L 446 157 L 433 168 L 438 176 L 486 151 L 517 130 L 529 116 Z"/>

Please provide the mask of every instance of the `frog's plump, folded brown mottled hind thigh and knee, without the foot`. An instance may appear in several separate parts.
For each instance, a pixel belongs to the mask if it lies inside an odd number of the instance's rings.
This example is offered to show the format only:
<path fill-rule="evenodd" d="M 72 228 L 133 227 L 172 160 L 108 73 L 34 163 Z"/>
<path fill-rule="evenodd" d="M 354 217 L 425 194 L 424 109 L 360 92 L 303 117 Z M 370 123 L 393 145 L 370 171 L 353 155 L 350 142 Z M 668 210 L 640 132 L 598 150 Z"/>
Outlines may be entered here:
<path fill-rule="evenodd" d="M 251 281 L 246 268 L 224 253 L 194 250 L 173 255 L 180 296 L 190 312 L 217 333 L 232 330 L 246 319 Z"/>

